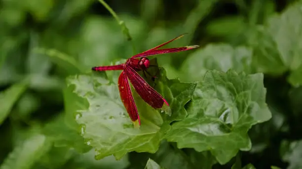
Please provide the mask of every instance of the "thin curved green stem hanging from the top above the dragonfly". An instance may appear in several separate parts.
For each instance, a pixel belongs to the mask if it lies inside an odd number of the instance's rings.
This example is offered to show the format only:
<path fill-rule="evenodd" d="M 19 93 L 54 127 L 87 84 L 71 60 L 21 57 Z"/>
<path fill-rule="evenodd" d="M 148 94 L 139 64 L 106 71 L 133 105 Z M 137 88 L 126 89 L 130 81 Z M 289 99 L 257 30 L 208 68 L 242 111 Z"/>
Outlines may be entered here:
<path fill-rule="evenodd" d="M 114 10 L 104 1 L 104 0 L 99 0 L 104 6 L 105 8 L 112 14 L 112 16 L 114 17 L 114 19 L 117 21 L 118 25 L 121 26 L 122 32 L 123 34 L 126 36 L 127 40 L 131 42 L 132 44 L 132 48 L 133 48 L 133 53 L 135 54 L 135 45 L 132 41 L 132 37 L 129 33 L 129 29 L 126 27 L 126 24 L 124 21 L 120 20 L 119 17 L 117 16 L 117 14 L 114 12 Z"/>

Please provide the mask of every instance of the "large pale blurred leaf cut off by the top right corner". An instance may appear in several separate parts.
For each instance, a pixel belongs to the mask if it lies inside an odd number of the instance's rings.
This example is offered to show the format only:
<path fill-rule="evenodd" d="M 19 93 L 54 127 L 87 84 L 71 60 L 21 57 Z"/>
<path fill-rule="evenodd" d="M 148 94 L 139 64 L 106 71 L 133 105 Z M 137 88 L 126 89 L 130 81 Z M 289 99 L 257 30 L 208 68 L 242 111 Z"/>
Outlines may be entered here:
<path fill-rule="evenodd" d="M 277 44 L 285 65 L 291 70 L 302 66 L 302 2 L 289 6 L 281 15 L 268 19 L 268 31 Z"/>

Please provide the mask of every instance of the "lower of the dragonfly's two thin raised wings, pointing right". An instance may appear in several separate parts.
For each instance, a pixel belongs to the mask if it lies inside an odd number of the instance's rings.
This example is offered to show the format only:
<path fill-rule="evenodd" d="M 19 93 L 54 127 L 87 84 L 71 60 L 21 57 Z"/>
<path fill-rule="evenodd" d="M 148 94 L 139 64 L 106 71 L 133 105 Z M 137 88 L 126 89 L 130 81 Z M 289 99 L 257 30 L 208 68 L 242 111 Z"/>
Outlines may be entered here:
<path fill-rule="evenodd" d="M 146 57 L 146 56 L 152 56 L 152 55 L 159 55 L 159 54 L 167 54 L 167 53 L 173 53 L 173 52 L 181 52 L 181 51 L 188 51 L 191 49 L 198 48 L 198 45 L 192 45 L 192 46 L 184 46 L 179 48 L 167 48 L 167 49 L 155 49 L 149 52 L 144 52 L 137 54 L 135 56 L 132 56 L 132 58 L 136 57 Z"/>

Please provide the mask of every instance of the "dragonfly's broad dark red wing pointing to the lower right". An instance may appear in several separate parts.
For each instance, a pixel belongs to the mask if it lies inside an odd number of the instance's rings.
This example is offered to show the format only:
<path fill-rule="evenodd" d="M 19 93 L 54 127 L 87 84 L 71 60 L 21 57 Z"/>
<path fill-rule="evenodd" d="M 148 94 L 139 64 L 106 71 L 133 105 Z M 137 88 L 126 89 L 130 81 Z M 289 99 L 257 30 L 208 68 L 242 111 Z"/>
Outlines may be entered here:
<path fill-rule="evenodd" d="M 134 69 L 126 65 L 124 72 L 141 98 L 154 109 L 161 109 L 171 115 L 167 101 L 155 91 Z"/>

